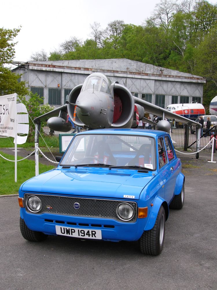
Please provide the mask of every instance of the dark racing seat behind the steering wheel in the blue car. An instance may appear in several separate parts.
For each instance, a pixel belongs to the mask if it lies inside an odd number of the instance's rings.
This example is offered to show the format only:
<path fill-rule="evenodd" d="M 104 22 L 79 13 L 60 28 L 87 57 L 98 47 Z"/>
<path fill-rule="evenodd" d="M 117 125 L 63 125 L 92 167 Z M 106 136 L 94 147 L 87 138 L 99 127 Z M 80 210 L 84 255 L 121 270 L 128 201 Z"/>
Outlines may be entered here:
<path fill-rule="evenodd" d="M 95 159 L 94 162 L 95 163 L 104 163 L 104 164 L 110 164 L 110 165 L 116 165 L 117 161 L 115 159 L 115 157 L 113 156 L 111 149 L 109 147 L 109 145 L 107 143 L 105 143 L 104 141 L 99 141 L 97 144 L 97 151 L 94 154 L 94 157 L 96 157 L 97 160 Z"/>

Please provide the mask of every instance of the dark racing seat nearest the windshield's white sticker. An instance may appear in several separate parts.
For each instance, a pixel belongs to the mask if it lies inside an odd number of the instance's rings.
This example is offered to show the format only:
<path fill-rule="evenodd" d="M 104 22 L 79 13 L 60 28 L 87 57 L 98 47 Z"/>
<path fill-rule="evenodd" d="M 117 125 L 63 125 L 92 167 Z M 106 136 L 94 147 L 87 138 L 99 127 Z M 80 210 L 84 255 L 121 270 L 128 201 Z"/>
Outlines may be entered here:
<path fill-rule="evenodd" d="M 128 166 L 149 164 L 151 159 L 149 144 L 142 144 L 136 153 L 136 156 L 128 162 Z"/>

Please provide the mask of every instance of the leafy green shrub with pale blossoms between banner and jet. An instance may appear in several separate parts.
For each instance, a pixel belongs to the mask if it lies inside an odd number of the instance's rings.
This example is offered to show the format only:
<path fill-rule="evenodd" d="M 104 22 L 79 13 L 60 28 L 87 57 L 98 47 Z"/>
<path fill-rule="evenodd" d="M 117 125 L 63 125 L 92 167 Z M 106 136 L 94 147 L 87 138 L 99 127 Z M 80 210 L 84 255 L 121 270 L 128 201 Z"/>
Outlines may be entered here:
<path fill-rule="evenodd" d="M 25 97 L 20 98 L 21 102 L 26 106 L 27 112 L 29 114 L 29 134 L 28 134 L 28 140 L 33 140 L 35 136 L 35 125 L 33 123 L 33 120 L 36 117 L 39 117 L 45 113 L 50 112 L 54 109 L 54 107 L 51 107 L 49 104 L 43 104 L 43 97 L 38 96 L 37 93 L 33 94 L 30 92 L 30 98 L 28 100 L 25 99 Z M 41 128 L 43 128 L 45 124 L 41 124 Z"/>

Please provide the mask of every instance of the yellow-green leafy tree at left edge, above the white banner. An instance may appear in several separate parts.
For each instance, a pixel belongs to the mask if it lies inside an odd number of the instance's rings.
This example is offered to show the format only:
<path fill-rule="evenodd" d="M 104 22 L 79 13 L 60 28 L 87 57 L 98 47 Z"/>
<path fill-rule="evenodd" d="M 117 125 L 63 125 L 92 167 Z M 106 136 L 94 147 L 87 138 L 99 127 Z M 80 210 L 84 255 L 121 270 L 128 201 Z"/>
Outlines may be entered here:
<path fill-rule="evenodd" d="M 19 31 L 20 28 L 0 28 L 0 95 L 13 93 L 26 95 L 28 93 L 25 82 L 18 82 L 21 75 L 16 75 L 11 72 L 10 68 L 5 67 L 5 64 L 10 64 L 14 57 L 16 43 L 13 42 L 13 39 Z"/>

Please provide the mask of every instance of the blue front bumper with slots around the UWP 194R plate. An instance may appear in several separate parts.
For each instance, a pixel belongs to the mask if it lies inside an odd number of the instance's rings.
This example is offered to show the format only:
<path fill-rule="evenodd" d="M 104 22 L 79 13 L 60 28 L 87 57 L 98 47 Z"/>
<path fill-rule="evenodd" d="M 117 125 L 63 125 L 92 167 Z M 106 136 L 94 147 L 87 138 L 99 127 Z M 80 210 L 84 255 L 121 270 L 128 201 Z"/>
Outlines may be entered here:
<path fill-rule="evenodd" d="M 69 215 L 28 213 L 25 208 L 20 210 L 21 218 L 32 231 L 40 231 L 47 235 L 56 235 L 56 225 L 78 229 L 101 230 L 102 240 L 119 242 L 137 241 L 141 237 L 147 218 L 137 218 L 136 222 L 119 222 L 107 218 L 90 218 Z"/>

